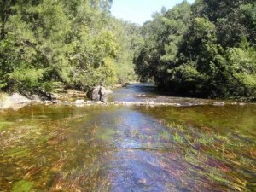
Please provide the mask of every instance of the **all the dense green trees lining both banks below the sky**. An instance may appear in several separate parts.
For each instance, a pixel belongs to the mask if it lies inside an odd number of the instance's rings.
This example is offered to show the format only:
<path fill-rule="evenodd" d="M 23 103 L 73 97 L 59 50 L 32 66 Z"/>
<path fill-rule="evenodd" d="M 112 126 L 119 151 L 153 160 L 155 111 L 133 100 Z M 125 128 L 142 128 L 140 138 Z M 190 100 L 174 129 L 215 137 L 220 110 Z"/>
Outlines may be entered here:
<path fill-rule="evenodd" d="M 88 90 L 137 79 L 189 96 L 256 95 L 254 0 L 186 1 L 142 27 L 112 0 L 0 2 L 0 89 Z M 135 63 L 135 64 L 133 64 Z"/>

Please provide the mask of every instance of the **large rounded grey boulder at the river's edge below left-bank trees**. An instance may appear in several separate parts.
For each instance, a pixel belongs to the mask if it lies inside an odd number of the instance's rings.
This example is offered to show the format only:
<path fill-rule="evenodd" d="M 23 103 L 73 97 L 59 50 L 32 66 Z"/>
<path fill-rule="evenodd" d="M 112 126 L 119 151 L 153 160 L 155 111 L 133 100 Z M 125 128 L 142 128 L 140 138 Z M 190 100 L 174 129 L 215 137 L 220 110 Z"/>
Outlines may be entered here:
<path fill-rule="evenodd" d="M 103 86 L 96 86 L 88 91 L 87 96 L 93 101 L 107 102 L 108 90 Z"/>

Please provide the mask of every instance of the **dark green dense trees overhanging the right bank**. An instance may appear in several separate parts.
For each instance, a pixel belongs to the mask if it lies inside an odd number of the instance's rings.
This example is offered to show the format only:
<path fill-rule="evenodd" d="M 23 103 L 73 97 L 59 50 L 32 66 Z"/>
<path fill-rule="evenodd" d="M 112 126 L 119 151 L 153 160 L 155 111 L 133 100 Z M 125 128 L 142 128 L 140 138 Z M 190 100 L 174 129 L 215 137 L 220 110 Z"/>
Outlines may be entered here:
<path fill-rule="evenodd" d="M 254 0 L 186 1 L 143 25 L 137 73 L 189 96 L 256 95 Z"/>

